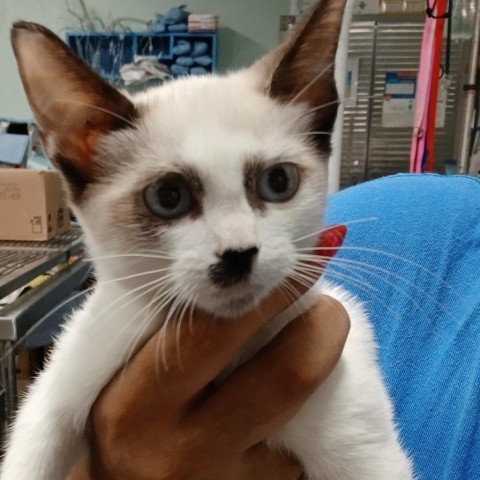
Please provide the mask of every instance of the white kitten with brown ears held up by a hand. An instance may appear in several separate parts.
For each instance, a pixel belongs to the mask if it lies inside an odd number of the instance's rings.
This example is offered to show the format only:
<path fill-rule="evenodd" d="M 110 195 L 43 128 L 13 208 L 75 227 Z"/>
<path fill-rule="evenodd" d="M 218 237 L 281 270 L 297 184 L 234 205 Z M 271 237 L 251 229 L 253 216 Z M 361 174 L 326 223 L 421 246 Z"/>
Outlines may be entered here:
<path fill-rule="evenodd" d="M 21 406 L 1 480 L 65 479 L 95 398 L 168 320 L 167 303 L 234 317 L 300 270 L 322 224 L 343 3 L 324 0 L 250 69 L 133 99 L 48 30 L 14 26 L 21 77 L 98 285 Z M 332 375 L 271 443 L 293 451 L 309 479 L 411 479 L 365 313 L 341 289 L 315 288 L 345 305 L 351 333 Z"/>

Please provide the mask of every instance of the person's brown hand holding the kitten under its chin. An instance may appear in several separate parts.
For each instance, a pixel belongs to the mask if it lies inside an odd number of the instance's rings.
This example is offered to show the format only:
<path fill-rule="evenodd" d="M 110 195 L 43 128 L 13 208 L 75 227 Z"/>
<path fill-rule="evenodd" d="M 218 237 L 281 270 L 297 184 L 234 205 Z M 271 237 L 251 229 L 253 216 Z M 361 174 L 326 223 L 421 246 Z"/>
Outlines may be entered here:
<path fill-rule="evenodd" d="M 208 389 L 282 302 L 274 296 L 260 312 L 213 324 L 195 314 L 193 331 L 187 321 L 161 341 L 156 334 L 98 398 L 90 458 L 70 480 L 300 478 L 295 459 L 263 441 L 335 367 L 349 331 L 338 302 L 321 297 L 220 388 Z"/>

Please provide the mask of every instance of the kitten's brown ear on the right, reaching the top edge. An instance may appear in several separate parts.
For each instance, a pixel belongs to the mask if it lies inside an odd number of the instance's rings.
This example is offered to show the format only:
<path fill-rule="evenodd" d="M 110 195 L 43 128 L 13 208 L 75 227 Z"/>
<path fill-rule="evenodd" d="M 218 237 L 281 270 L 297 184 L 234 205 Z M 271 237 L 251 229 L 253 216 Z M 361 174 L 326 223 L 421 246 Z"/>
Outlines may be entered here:
<path fill-rule="evenodd" d="M 328 132 L 338 107 L 334 65 L 345 3 L 317 3 L 285 43 L 252 67 L 272 98 L 316 108 L 312 110 L 315 127 Z"/>

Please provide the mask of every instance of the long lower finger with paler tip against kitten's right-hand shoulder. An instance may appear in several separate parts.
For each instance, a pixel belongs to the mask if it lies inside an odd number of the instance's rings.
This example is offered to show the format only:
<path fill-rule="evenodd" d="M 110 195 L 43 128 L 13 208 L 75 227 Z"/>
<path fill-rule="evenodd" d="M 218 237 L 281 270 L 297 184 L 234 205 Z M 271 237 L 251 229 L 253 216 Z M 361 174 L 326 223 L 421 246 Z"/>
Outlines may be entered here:
<path fill-rule="evenodd" d="M 245 448 L 261 442 L 285 425 L 330 374 L 349 326 L 339 302 L 323 296 L 192 411 L 189 421 L 203 423 L 225 444 L 235 444 L 232 437 Z"/>

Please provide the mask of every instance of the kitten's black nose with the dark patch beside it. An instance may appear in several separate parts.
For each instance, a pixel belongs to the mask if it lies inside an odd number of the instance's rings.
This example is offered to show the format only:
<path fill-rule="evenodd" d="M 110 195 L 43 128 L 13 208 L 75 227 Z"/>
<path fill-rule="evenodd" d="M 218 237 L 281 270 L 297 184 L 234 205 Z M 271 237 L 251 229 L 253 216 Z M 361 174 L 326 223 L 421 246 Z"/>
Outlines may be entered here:
<path fill-rule="evenodd" d="M 252 271 L 253 261 L 257 254 L 257 247 L 226 250 L 219 255 L 218 263 L 210 265 L 209 274 L 212 282 L 220 287 L 230 287 L 245 280 Z"/>

